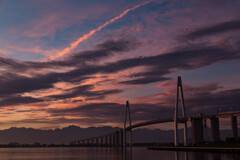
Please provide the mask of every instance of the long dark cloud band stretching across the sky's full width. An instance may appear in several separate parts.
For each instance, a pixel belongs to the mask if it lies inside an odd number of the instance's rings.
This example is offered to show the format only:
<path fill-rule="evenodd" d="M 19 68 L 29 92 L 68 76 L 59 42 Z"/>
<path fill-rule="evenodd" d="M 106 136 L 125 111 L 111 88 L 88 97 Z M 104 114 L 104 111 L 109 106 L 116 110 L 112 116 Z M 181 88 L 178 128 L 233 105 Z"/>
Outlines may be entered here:
<path fill-rule="evenodd" d="M 235 51 L 225 50 L 221 48 L 203 48 L 183 51 L 174 51 L 151 57 L 137 57 L 131 59 L 120 60 L 105 65 L 85 65 L 80 68 L 68 71 L 66 73 L 48 73 L 38 75 L 33 78 L 17 76 L 14 74 L 6 74 L 0 78 L 0 95 L 11 95 L 24 92 L 31 92 L 40 89 L 52 88 L 56 82 L 81 82 L 91 78 L 96 73 L 111 74 L 125 69 L 145 66 L 147 71 L 133 74 L 128 81 L 120 83 L 125 84 L 147 84 L 156 81 L 167 80 L 165 76 L 176 70 L 190 70 L 205 67 L 217 62 L 236 60 L 240 58 L 240 54 Z M 86 86 L 85 86 L 86 87 Z M 89 86 L 88 86 L 89 87 Z M 89 89 L 89 88 L 88 88 Z M 70 94 L 53 96 L 53 98 L 71 97 L 81 92 L 77 88 Z M 113 90 L 112 92 L 121 92 Z M 86 93 L 86 95 L 107 94 L 106 92 Z"/>

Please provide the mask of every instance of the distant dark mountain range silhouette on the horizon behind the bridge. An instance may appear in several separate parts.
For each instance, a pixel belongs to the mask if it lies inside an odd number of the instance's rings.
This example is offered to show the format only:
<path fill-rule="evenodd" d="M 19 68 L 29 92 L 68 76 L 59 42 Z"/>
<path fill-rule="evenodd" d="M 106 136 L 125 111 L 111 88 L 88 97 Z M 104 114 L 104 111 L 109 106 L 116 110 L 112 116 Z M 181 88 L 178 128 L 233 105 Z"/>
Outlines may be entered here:
<path fill-rule="evenodd" d="M 40 130 L 33 128 L 16 128 L 12 127 L 0 130 L 0 144 L 8 144 L 10 142 L 18 142 L 21 144 L 32 144 L 39 142 L 41 144 L 69 144 L 73 140 L 103 135 L 118 128 L 112 127 L 89 127 L 81 128 L 78 126 L 68 126 L 62 129 Z M 209 130 L 209 129 L 208 129 Z M 180 130 L 180 139 L 182 137 Z M 210 131 L 208 131 L 210 133 Z M 191 135 L 191 129 L 189 129 Z M 221 137 L 230 136 L 229 130 L 221 131 Z M 191 137 L 190 137 L 191 138 Z M 152 143 L 152 142 L 173 142 L 173 131 L 165 131 L 160 129 L 136 129 L 133 131 L 134 143 Z"/>

